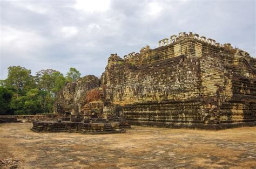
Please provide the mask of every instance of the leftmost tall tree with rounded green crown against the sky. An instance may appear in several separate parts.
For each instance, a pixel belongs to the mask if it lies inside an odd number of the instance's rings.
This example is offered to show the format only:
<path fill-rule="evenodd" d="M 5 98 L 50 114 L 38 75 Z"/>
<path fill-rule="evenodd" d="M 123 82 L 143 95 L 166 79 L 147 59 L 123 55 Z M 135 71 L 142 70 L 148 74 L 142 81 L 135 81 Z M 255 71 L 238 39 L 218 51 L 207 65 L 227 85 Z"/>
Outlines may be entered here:
<path fill-rule="evenodd" d="M 20 91 L 25 93 L 23 89 L 30 89 L 31 85 L 35 85 L 35 83 L 33 83 L 33 76 L 31 75 L 31 70 L 21 66 L 8 67 L 8 78 L 5 79 L 4 83 L 6 87 L 11 86 L 16 88 L 17 97 L 19 96 Z"/>

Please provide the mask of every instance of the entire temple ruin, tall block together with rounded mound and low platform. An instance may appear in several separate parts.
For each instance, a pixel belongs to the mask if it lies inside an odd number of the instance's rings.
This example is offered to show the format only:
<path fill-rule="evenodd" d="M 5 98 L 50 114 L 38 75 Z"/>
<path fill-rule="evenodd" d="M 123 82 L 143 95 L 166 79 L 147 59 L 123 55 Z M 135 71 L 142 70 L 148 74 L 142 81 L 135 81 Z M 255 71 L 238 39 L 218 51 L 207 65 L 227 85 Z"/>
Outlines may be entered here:
<path fill-rule="evenodd" d="M 160 40 L 155 49 L 146 46 L 123 59 L 111 54 L 100 79 L 89 75 L 67 83 L 56 98 L 55 112 L 62 119 L 55 125 L 68 130 L 73 121 L 79 125 L 72 130 L 83 132 L 104 131 L 105 125 L 117 131 L 129 128 L 128 123 L 200 129 L 254 126 L 255 73 L 256 59 L 247 52 L 181 32 Z M 93 126 L 97 121 L 101 129 Z M 56 130 L 50 125 L 34 122 L 33 130 Z"/>

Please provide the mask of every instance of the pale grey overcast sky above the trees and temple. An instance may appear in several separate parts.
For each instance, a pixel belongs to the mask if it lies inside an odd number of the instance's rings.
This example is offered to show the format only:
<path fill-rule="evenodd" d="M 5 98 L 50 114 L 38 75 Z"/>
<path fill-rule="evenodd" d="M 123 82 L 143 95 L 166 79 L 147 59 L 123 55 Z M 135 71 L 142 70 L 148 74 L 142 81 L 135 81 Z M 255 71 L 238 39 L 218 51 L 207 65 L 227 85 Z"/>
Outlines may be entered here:
<path fill-rule="evenodd" d="M 255 1 L 1 1 L 0 79 L 9 66 L 35 74 L 70 67 L 101 75 L 120 57 L 179 32 L 231 43 L 256 57 Z"/>

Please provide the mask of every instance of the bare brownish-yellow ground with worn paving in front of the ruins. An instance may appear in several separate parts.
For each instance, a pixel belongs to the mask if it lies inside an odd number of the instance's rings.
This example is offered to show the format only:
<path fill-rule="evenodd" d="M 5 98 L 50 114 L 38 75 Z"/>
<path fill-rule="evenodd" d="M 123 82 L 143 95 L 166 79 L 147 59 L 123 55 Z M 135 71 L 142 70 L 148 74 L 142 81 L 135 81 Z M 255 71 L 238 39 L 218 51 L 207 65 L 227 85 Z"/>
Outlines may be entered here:
<path fill-rule="evenodd" d="M 110 135 L 35 133 L 31 127 L 0 124 L 0 168 L 256 168 L 256 127 L 132 126 Z"/>

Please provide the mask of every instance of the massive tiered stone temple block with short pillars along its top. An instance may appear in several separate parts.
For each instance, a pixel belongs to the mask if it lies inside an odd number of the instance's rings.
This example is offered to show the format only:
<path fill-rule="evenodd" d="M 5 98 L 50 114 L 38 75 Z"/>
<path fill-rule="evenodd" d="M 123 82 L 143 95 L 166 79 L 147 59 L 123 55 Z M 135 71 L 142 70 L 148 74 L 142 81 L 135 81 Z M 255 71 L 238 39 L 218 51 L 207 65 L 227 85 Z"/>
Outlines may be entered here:
<path fill-rule="evenodd" d="M 163 39 L 158 48 L 146 46 L 124 59 L 112 54 L 102 81 L 106 100 L 122 105 L 124 116 L 134 124 L 255 124 L 255 59 L 231 44 L 197 34 L 180 33 L 170 43 Z"/>

